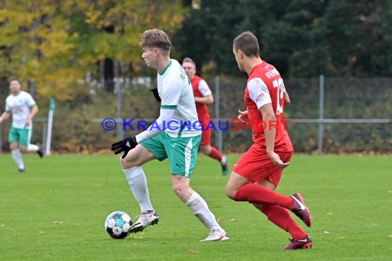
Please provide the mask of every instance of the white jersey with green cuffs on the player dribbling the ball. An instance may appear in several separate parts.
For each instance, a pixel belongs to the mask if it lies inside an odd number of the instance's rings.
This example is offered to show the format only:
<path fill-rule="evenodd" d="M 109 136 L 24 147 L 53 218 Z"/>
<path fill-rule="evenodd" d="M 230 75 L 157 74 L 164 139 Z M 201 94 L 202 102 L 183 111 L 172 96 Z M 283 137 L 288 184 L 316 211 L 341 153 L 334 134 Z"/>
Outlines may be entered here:
<path fill-rule="evenodd" d="M 202 134 L 192 85 L 177 60 L 171 59 L 164 70 L 158 72 L 157 88 L 162 100 L 161 109 L 175 109 L 171 122 L 166 122 L 165 132 L 170 137 Z"/>

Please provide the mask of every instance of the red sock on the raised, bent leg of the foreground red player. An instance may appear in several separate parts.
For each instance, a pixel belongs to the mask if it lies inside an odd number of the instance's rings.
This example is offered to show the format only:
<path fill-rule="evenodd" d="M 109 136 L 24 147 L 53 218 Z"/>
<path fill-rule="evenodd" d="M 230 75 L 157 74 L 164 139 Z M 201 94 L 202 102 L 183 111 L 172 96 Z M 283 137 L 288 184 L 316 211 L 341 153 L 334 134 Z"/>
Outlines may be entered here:
<path fill-rule="evenodd" d="M 290 196 L 283 196 L 262 185 L 249 183 L 243 185 L 234 197 L 235 201 L 248 201 L 249 203 L 280 205 L 286 209 L 292 209 L 294 201 Z"/>

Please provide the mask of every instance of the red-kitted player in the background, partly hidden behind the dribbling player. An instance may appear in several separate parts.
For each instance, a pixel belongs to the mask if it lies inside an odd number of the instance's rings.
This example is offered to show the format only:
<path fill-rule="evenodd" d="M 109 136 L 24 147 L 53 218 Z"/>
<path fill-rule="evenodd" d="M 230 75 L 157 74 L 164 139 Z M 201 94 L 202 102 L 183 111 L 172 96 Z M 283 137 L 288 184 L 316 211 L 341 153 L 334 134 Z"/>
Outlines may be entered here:
<path fill-rule="evenodd" d="M 182 60 L 182 67 L 184 67 L 186 75 L 190 79 L 193 88 L 193 95 L 195 96 L 197 117 L 202 126 L 207 126 L 210 121 L 210 113 L 208 112 L 208 104 L 214 102 L 213 93 L 208 87 L 207 82 L 196 75 L 196 63 L 191 58 L 184 58 Z M 208 157 L 216 159 L 221 163 L 222 174 L 228 174 L 228 160 L 226 156 L 214 146 L 211 146 L 211 131 L 212 128 L 202 129 L 202 141 L 200 142 L 200 150 Z"/>

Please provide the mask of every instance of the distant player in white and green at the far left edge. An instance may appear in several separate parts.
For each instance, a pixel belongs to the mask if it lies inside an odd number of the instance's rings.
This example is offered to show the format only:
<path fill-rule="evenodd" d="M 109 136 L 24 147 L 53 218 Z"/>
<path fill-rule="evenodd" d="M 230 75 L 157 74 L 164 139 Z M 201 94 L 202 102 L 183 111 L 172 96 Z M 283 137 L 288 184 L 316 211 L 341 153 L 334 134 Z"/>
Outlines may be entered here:
<path fill-rule="evenodd" d="M 12 126 L 8 133 L 8 142 L 12 158 L 17 163 L 19 172 L 25 172 L 21 152 L 36 152 L 43 157 L 39 146 L 30 144 L 32 119 L 38 113 L 38 106 L 30 93 L 21 91 L 22 85 L 18 78 L 10 79 L 11 94 L 6 99 L 6 111 L 0 116 L 0 124 L 12 115 Z"/>

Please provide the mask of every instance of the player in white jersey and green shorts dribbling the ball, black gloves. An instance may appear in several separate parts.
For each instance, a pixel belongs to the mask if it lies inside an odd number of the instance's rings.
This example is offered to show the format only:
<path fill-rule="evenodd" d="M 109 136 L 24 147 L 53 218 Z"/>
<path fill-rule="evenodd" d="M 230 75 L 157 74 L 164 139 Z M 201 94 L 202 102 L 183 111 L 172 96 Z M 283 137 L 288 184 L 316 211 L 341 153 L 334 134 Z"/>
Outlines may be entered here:
<path fill-rule="evenodd" d="M 197 113 L 190 80 L 182 65 L 169 57 L 171 42 L 162 30 L 146 30 L 140 45 L 146 65 L 158 71 L 157 92 L 162 103 L 160 117 L 154 124 L 160 128 L 148 128 L 111 146 L 116 154 L 124 152 L 122 169 L 142 212 L 130 230 L 136 233 L 158 222 L 159 216 L 151 205 L 141 166 L 153 159 L 163 161 L 168 158 L 173 191 L 210 230 L 208 237 L 202 241 L 228 240 L 226 231 L 217 223 L 206 201 L 189 185 L 202 133 L 199 124 L 195 124 Z M 173 121 L 170 128 L 164 130 L 170 121 Z M 180 122 L 190 124 L 181 126 Z"/>

